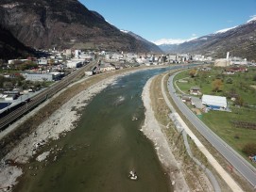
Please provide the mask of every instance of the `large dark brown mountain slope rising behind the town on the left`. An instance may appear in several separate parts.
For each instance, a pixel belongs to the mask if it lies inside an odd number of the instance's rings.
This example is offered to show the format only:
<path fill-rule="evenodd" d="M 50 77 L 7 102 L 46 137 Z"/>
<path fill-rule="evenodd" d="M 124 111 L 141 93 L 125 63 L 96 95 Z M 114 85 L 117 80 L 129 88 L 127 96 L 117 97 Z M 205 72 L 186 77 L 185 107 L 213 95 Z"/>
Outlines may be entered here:
<path fill-rule="evenodd" d="M 1 0 L 0 24 L 26 46 L 151 52 L 77 0 Z"/>

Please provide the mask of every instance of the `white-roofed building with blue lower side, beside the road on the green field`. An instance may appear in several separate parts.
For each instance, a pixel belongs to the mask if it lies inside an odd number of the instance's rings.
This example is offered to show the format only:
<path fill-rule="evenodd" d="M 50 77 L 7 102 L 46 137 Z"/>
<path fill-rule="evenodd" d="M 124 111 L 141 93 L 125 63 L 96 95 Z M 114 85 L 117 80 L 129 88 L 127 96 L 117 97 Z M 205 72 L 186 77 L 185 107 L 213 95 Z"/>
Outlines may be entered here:
<path fill-rule="evenodd" d="M 210 107 L 213 110 L 225 110 L 227 109 L 227 98 L 213 95 L 203 95 L 202 104 Z"/>

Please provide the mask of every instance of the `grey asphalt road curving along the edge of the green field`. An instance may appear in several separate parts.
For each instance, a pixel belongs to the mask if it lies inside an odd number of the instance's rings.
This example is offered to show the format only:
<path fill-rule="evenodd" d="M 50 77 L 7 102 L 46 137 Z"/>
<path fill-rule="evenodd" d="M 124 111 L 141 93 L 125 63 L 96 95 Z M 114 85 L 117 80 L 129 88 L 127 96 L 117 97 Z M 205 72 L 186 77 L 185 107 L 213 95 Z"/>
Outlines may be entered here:
<path fill-rule="evenodd" d="M 168 79 L 168 89 L 175 104 L 179 107 L 179 110 L 188 120 L 190 120 L 198 132 L 230 162 L 230 165 L 233 168 L 236 168 L 236 170 L 240 172 L 250 184 L 256 186 L 256 168 L 251 166 L 240 154 L 232 150 L 231 147 L 219 136 L 216 136 L 209 127 L 199 120 L 196 115 L 185 104 L 183 104 L 179 96 L 175 93 L 175 88 L 173 86 L 174 76 L 175 74 L 171 75 Z"/>

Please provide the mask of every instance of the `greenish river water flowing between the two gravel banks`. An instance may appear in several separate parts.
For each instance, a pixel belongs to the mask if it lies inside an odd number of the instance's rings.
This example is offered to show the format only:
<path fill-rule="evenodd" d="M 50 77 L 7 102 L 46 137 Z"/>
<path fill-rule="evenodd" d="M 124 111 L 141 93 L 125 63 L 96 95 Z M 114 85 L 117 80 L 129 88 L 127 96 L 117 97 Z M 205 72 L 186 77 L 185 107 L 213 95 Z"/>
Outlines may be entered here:
<path fill-rule="evenodd" d="M 142 90 L 150 77 L 166 70 L 120 77 L 97 94 L 75 130 L 43 147 L 41 152 L 52 150 L 47 161 L 26 165 L 14 191 L 172 191 L 153 144 L 140 131 Z M 137 181 L 128 178 L 130 170 Z"/>

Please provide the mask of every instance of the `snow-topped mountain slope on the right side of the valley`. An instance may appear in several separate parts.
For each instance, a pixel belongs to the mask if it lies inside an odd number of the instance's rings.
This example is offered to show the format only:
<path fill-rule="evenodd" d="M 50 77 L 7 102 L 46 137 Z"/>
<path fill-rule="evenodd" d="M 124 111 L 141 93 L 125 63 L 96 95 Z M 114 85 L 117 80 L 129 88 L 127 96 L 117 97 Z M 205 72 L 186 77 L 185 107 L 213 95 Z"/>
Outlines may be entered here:
<path fill-rule="evenodd" d="M 217 31 L 180 44 L 161 45 L 166 53 L 202 54 L 213 57 L 240 56 L 256 60 L 256 18 L 225 30 Z"/>

